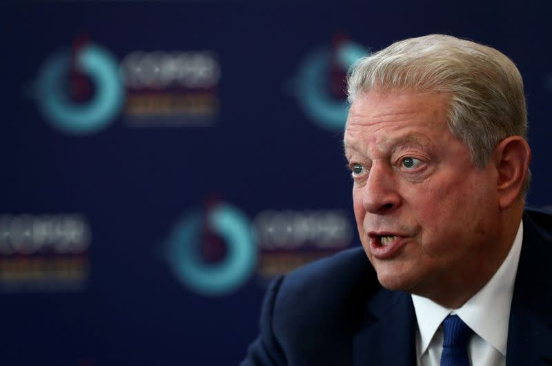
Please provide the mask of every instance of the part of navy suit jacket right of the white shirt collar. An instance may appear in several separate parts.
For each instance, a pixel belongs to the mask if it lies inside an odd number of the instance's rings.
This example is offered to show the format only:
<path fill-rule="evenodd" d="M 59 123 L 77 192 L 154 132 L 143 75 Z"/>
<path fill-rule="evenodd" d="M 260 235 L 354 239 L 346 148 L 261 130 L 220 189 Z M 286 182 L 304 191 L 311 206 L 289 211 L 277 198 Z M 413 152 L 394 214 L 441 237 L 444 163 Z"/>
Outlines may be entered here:
<path fill-rule="evenodd" d="M 520 264 L 513 291 L 506 366 L 552 365 L 552 242 L 523 218 Z"/>

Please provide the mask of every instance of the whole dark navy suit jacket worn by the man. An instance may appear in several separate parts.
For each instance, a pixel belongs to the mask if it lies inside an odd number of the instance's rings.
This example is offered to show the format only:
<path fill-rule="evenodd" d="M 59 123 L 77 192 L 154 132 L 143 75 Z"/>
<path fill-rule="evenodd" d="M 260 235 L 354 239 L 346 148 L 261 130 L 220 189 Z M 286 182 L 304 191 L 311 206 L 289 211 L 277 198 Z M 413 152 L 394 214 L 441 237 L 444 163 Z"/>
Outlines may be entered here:
<path fill-rule="evenodd" d="M 552 365 L 552 217 L 526 211 L 506 366 Z M 362 248 L 272 282 L 242 366 L 416 365 L 410 294 L 377 283 Z"/>

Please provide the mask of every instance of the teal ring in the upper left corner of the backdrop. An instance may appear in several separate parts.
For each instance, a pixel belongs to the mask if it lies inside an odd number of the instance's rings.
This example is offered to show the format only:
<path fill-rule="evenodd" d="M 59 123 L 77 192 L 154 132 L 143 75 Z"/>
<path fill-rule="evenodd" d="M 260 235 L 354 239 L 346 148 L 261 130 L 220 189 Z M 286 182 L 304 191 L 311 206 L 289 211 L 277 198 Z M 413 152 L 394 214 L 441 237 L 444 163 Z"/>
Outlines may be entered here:
<path fill-rule="evenodd" d="M 94 86 L 92 97 L 77 103 L 67 93 L 67 79 L 76 68 Z M 48 122 L 65 133 L 85 135 L 106 128 L 121 110 L 124 86 L 119 65 L 109 52 L 95 44 L 79 48 L 77 55 L 62 50 L 49 57 L 37 81 L 39 108 Z"/>

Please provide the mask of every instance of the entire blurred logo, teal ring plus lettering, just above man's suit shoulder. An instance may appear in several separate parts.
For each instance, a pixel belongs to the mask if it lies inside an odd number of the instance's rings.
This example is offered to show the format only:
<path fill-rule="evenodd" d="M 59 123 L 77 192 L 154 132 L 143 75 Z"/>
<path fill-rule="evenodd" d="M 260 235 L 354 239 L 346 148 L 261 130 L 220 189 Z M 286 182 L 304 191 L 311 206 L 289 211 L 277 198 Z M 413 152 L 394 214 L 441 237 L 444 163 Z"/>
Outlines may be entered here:
<path fill-rule="evenodd" d="M 236 291 L 255 267 L 262 282 L 351 244 L 341 210 L 266 210 L 253 220 L 235 206 L 211 201 L 173 227 L 162 254 L 175 277 L 206 296 Z"/>

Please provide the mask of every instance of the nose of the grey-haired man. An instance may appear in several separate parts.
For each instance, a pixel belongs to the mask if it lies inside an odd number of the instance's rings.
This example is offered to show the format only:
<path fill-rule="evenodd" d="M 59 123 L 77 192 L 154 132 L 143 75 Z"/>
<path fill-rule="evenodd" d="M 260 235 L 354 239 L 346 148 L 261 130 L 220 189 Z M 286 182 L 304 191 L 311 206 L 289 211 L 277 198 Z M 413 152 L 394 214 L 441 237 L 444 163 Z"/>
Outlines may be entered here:
<path fill-rule="evenodd" d="M 362 189 L 362 205 L 369 213 L 391 213 L 402 203 L 397 191 L 397 176 L 393 167 L 384 162 L 374 162 L 366 184 Z"/>

